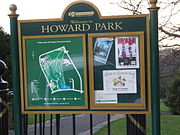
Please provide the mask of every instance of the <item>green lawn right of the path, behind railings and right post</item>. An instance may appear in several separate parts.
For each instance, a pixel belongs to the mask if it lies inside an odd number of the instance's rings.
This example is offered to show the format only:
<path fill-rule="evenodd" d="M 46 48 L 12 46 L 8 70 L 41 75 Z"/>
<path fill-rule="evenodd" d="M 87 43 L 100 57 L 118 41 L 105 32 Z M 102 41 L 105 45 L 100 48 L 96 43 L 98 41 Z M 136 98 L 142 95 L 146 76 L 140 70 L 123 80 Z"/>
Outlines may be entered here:
<path fill-rule="evenodd" d="M 161 111 L 168 112 L 169 108 L 161 102 Z M 161 114 L 161 135 L 180 135 L 180 115 Z M 152 134 L 151 114 L 146 115 L 146 134 Z M 104 126 L 95 135 L 107 135 L 107 126 Z M 126 119 L 111 123 L 111 135 L 126 135 Z"/>

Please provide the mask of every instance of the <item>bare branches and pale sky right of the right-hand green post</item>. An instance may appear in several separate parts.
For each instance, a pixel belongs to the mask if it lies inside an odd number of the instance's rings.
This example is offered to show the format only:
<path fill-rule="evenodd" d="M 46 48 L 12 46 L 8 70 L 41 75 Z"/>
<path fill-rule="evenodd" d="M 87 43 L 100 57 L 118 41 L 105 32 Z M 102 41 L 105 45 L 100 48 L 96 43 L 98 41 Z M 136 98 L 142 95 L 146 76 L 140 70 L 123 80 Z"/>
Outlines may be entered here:
<path fill-rule="evenodd" d="M 159 31 L 161 47 L 180 47 L 180 24 L 177 20 L 180 11 L 180 0 L 159 2 L 160 10 Z"/>

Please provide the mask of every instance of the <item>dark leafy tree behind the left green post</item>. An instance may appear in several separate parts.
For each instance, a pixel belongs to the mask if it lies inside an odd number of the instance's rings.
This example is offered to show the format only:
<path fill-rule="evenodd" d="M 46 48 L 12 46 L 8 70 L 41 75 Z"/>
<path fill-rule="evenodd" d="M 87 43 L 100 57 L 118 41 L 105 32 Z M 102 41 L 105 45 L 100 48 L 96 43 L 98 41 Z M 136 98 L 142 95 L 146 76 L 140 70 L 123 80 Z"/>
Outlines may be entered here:
<path fill-rule="evenodd" d="M 4 80 L 8 81 L 9 88 L 11 88 L 11 55 L 10 55 L 10 35 L 4 32 L 3 28 L 0 27 L 0 60 L 3 60 L 8 66 L 3 75 Z"/>

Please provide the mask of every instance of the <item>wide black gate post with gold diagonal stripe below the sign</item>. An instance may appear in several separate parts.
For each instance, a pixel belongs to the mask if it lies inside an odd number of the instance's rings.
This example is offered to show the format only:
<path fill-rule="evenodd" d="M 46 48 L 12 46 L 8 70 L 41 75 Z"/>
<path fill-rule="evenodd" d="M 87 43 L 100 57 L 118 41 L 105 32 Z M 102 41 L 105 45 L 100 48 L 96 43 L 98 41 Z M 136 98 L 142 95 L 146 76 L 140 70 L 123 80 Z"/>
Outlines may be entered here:
<path fill-rule="evenodd" d="M 127 114 L 127 135 L 146 135 L 145 114 Z"/>

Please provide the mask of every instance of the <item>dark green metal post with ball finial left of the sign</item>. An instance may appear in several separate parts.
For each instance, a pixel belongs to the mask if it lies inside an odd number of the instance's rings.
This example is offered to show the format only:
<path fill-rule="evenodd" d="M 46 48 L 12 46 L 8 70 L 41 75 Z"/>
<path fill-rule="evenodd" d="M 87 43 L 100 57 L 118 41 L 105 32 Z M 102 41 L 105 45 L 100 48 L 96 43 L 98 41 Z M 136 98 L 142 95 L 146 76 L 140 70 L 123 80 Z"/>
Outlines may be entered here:
<path fill-rule="evenodd" d="M 17 7 L 12 4 L 9 9 L 11 10 L 10 28 L 11 28 L 11 60 L 12 60 L 12 77 L 13 77 L 13 92 L 14 92 L 14 127 L 15 134 L 21 135 L 22 120 L 21 120 L 21 106 L 20 106 L 20 81 L 19 81 L 19 56 L 18 56 L 18 30 L 17 30 Z"/>

